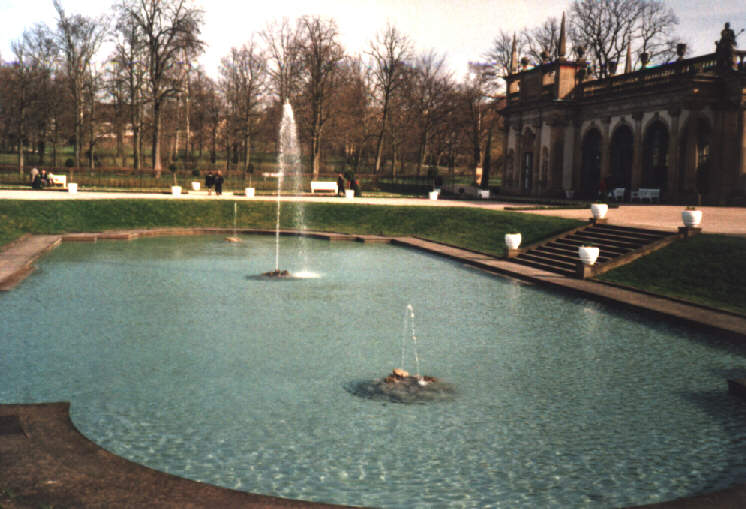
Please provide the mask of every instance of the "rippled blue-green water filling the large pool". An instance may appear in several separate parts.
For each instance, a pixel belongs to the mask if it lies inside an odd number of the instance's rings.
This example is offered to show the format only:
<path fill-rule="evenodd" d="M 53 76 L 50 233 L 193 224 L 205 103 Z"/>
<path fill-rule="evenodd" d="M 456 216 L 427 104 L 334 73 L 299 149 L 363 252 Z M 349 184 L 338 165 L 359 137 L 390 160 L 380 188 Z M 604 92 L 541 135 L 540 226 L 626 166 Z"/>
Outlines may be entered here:
<path fill-rule="evenodd" d="M 257 493 L 378 507 L 618 507 L 746 480 L 746 350 L 403 248 L 65 244 L 0 295 L 0 402 L 70 400 L 101 446 Z M 427 404 L 349 387 L 401 359 Z M 411 352 L 411 345 L 410 350 Z M 413 358 L 406 369 L 414 371 Z"/>

